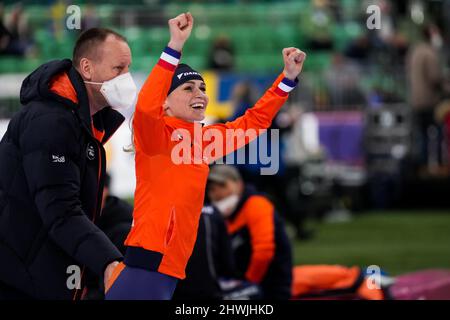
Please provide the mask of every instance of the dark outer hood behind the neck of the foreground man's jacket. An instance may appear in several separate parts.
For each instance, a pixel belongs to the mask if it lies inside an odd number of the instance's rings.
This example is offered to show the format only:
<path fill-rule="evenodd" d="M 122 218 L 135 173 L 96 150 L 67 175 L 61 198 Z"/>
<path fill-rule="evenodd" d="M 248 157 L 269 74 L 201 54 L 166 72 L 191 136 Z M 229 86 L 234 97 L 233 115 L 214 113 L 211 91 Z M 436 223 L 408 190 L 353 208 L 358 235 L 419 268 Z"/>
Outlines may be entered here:
<path fill-rule="evenodd" d="M 61 72 L 69 72 L 71 68 L 72 61 L 69 59 L 54 60 L 41 65 L 22 82 L 20 103 L 24 105 L 30 101 L 54 96 L 49 90 L 50 81 Z"/>

